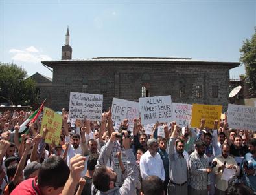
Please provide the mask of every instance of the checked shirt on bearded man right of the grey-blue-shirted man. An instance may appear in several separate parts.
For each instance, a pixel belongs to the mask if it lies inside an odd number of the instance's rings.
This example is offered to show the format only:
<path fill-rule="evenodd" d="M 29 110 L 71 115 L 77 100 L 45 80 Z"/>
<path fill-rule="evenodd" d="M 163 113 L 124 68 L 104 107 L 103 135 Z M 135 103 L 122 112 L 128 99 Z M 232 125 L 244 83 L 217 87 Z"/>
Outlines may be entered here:
<path fill-rule="evenodd" d="M 196 190 L 206 190 L 207 185 L 211 185 L 210 176 L 206 172 L 207 167 L 209 167 L 207 156 L 204 154 L 200 156 L 195 150 L 189 156 L 189 170 L 191 173 L 191 178 L 189 185 Z"/>

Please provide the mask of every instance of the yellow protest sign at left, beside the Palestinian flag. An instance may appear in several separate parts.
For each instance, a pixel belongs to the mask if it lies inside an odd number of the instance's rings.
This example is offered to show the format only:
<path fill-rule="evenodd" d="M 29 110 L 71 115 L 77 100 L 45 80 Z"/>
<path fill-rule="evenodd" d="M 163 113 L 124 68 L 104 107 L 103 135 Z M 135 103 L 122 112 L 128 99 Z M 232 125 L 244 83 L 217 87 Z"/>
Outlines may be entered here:
<path fill-rule="evenodd" d="M 60 132 L 62 130 L 62 116 L 50 108 L 44 107 L 40 135 L 43 135 L 43 128 L 45 127 L 48 129 L 45 143 L 51 144 L 55 141 L 56 145 L 58 145 L 60 141 Z"/>

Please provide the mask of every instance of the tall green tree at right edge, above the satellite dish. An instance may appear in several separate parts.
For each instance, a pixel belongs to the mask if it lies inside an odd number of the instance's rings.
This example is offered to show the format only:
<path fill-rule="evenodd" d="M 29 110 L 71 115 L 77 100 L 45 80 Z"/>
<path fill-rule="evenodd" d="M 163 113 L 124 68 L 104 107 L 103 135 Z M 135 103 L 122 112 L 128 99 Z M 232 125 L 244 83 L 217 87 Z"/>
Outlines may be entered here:
<path fill-rule="evenodd" d="M 250 87 L 251 94 L 256 92 L 256 27 L 254 28 L 255 33 L 250 40 L 246 39 L 243 41 L 240 52 L 240 61 L 246 68 L 246 81 Z"/>

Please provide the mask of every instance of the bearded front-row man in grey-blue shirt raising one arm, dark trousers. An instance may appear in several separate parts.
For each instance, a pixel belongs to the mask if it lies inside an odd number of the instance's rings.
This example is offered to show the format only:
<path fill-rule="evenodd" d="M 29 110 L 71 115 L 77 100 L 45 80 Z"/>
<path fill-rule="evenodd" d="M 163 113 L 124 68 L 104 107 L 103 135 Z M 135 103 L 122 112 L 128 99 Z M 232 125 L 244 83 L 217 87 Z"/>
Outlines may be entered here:
<path fill-rule="evenodd" d="M 187 195 L 187 162 L 183 156 L 185 144 L 181 139 L 176 139 L 178 128 L 178 125 L 175 125 L 169 142 L 170 182 L 168 194 Z"/>

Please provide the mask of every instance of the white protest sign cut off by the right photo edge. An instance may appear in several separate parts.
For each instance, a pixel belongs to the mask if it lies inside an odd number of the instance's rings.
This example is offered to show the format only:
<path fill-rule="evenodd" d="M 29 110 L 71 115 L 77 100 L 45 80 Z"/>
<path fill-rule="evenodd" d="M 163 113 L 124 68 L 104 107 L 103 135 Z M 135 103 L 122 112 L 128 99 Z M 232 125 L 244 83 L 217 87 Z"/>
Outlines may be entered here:
<path fill-rule="evenodd" d="M 256 131 L 256 108 L 229 104 L 227 122 L 229 128 Z"/>

